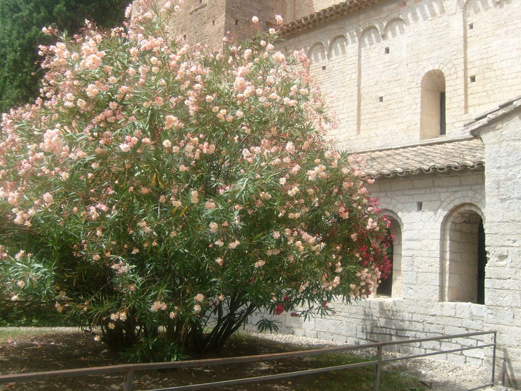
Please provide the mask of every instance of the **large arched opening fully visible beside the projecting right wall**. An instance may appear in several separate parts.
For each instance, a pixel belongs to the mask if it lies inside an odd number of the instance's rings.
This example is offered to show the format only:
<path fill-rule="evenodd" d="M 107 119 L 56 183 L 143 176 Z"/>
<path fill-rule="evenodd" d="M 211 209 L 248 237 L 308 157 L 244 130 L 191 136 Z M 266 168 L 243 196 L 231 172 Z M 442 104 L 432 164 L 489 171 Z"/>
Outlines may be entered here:
<path fill-rule="evenodd" d="M 462 205 L 446 221 L 444 300 L 485 304 L 485 229 L 474 205 Z"/>

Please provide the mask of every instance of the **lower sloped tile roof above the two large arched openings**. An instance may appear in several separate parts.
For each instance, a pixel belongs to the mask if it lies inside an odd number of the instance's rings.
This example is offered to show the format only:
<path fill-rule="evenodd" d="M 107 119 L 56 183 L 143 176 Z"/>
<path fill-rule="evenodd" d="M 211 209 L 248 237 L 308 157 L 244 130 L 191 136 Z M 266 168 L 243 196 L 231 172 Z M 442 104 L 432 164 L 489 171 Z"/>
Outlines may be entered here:
<path fill-rule="evenodd" d="M 485 167 L 485 144 L 479 139 L 356 153 L 354 164 L 366 177 L 393 177 L 474 170 Z"/>

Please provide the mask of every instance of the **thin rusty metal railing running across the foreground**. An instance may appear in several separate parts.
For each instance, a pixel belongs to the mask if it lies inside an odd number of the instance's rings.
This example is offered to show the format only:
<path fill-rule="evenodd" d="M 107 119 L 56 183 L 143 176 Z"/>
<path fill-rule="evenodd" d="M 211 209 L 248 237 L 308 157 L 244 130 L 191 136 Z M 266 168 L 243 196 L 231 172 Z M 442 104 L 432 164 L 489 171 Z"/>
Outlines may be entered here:
<path fill-rule="evenodd" d="M 382 348 L 384 346 L 421 344 L 423 342 L 428 342 L 428 341 L 440 341 L 440 340 L 445 340 L 445 339 L 467 338 L 467 337 L 474 337 L 474 336 L 479 336 L 479 335 L 491 335 L 491 334 L 493 335 L 493 343 L 489 343 L 489 344 L 483 344 L 483 345 L 478 344 L 476 346 L 467 346 L 467 347 L 455 348 L 455 349 L 445 349 L 445 350 L 433 351 L 433 352 L 429 352 L 429 353 L 421 353 L 421 354 L 410 355 L 410 356 L 391 357 L 391 358 L 382 357 Z M 379 342 L 379 343 L 364 344 L 364 345 L 345 345 L 345 346 L 339 346 L 339 347 L 322 348 L 322 349 L 314 349 L 314 350 L 302 350 L 302 351 L 284 352 L 284 353 L 274 353 L 274 354 L 257 355 L 257 356 L 242 356 L 242 357 L 176 361 L 176 362 L 156 362 L 156 363 L 147 363 L 147 364 L 123 364 L 123 365 L 97 366 L 97 367 L 93 367 L 93 368 L 69 369 L 69 370 L 60 370 L 60 371 L 17 373 L 17 374 L 10 374 L 10 375 L 0 375 L 0 384 L 13 383 L 13 382 L 43 381 L 43 380 L 48 380 L 48 379 L 65 378 L 65 377 L 79 377 L 79 376 L 86 376 L 86 375 L 125 373 L 125 382 L 123 383 L 123 391 L 133 391 L 134 372 L 137 372 L 137 371 L 149 371 L 149 370 L 172 369 L 172 368 L 187 368 L 187 367 L 194 368 L 194 367 L 198 367 L 198 366 L 207 366 L 207 365 L 223 365 L 223 364 L 245 363 L 245 362 L 254 362 L 254 361 L 281 360 L 281 359 L 287 359 L 287 358 L 293 358 L 293 357 L 317 356 L 317 355 L 324 355 L 327 353 L 334 353 L 334 352 L 376 348 L 376 350 L 377 350 L 376 360 L 373 360 L 373 361 L 335 365 L 335 366 L 328 366 L 326 368 L 308 369 L 308 370 L 296 371 L 296 372 L 278 373 L 278 374 L 274 374 L 274 375 L 263 375 L 263 376 L 247 377 L 247 378 L 241 378 L 241 379 L 225 380 L 225 381 L 212 382 L 212 383 L 191 384 L 191 385 L 173 386 L 173 387 L 167 387 L 167 388 L 154 388 L 154 389 L 148 389 L 146 391 L 189 391 L 189 390 L 204 389 L 204 388 L 209 388 L 209 387 L 222 387 L 222 386 L 228 386 L 228 385 L 234 385 L 234 384 L 244 384 L 244 383 L 262 382 L 262 381 L 268 381 L 268 380 L 277 380 L 277 379 L 287 378 L 287 377 L 295 377 L 295 376 L 309 375 L 309 374 L 329 372 L 329 371 L 338 371 L 338 370 L 343 370 L 343 369 L 348 369 L 348 368 L 355 368 L 357 366 L 370 366 L 370 365 L 376 366 L 374 391 L 378 391 L 379 387 L 380 387 L 380 374 L 381 374 L 383 364 L 387 364 L 387 363 L 394 362 L 394 361 L 410 360 L 410 359 L 415 359 L 415 358 L 420 358 L 420 357 L 441 355 L 444 353 L 456 353 L 456 352 L 462 352 L 462 351 L 472 350 L 472 349 L 482 349 L 482 348 L 487 348 L 487 347 L 493 347 L 491 382 L 489 384 L 483 384 L 481 386 L 470 388 L 467 390 L 467 391 L 474 391 L 477 389 L 490 387 L 490 386 L 494 385 L 496 343 L 497 343 L 497 331 L 488 331 L 488 332 L 444 335 L 444 336 L 430 337 L 430 338 L 417 338 L 417 339 L 406 339 L 406 340 L 389 341 L 389 342 Z"/>

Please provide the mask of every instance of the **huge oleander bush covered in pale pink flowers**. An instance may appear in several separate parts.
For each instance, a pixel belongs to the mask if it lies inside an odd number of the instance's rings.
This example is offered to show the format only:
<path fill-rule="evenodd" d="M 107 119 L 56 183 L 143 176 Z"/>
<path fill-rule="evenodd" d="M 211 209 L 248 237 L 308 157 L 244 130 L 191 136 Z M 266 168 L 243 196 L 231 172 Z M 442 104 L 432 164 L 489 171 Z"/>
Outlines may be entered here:
<path fill-rule="evenodd" d="M 4 294 L 149 360 L 219 349 L 254 311 L 325 314 L 389 270 L 305 54 L 274 29 L 190 47 L 168 34 L 178 7 L 138 0 L 125 28 L 42 48 L 42 99 L 0 138 Z"/>

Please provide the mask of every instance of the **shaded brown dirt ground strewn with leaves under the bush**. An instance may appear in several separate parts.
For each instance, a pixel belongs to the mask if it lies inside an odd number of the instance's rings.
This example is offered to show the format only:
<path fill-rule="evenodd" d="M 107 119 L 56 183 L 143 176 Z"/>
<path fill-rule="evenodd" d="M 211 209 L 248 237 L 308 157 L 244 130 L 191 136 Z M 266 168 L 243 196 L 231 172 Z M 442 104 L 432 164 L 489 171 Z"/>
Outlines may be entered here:
<path fill-rule="evenodd" d="M 254 339 L 232 339 L 224 356 L 245 356 L 291 350 L 289 346 L 272 341 Z M 114 353 L 96 343 L 91 334 L 68 333 L 39 336 L 22 336 L 8 339 L 0 345 L 0 373 L 38 372 L 111 365 L 117 361 Z M 134 389 L 152 389 L 222 381 L 233 378 L 260 376 L 316 368 L 316 364 L 305 358 L 284 361 L 265 361 L 246 364 L 206 366 L 205 368 L 174 369 L 165 371 L 139 371 L 134 373 Z M 73 377 L 45 382 L 0 384 L 0 390 L 17 391 L 79 391 L 79 390 L 122 390 L 124 374 Z M 318 380 L 317 380 L 318 379 Z M 234 391 L 285 391 L 292 390 L 296 382 L 311 382 L 309 389 L 320 389 L 319 377 L 299 377 L 262 384 L 245 384 L 219 389 Z M 309 386 L 309 384 L 306 384 Z M 210 388 L 208 388 L 210 389 Z M 211 388 L 216 390 L 216 388 Z"/>

